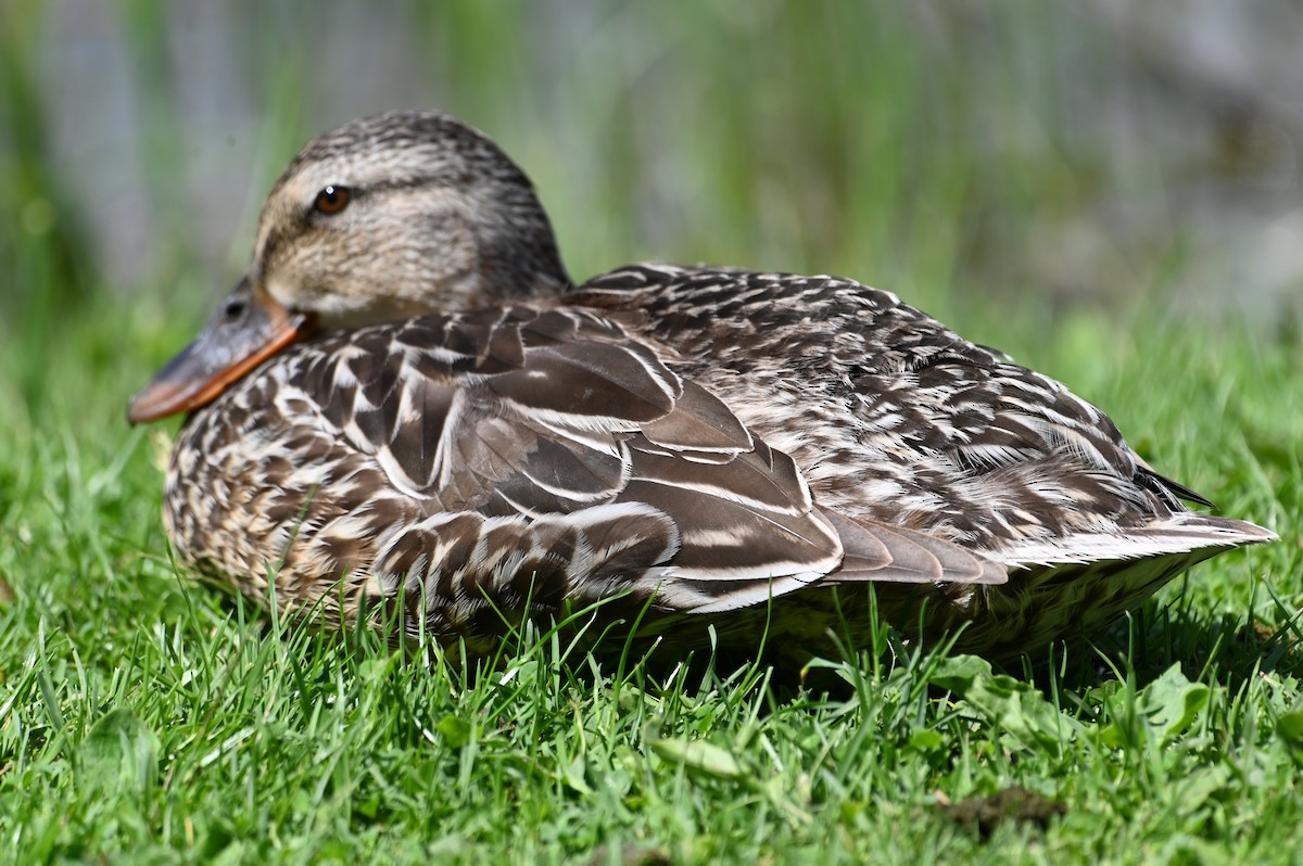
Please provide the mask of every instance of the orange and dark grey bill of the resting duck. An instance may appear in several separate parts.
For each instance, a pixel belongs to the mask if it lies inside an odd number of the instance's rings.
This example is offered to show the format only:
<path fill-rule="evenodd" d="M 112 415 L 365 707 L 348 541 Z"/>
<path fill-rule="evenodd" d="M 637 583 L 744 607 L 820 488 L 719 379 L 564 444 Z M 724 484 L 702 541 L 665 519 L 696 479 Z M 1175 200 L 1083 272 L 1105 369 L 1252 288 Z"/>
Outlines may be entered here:
<path fill-rule="evenodd" d="M 241 283 L 194 342 L 172 358 L 126 410 L 133 425 L 198 409 L 304 336 L 305 316 Z"/>

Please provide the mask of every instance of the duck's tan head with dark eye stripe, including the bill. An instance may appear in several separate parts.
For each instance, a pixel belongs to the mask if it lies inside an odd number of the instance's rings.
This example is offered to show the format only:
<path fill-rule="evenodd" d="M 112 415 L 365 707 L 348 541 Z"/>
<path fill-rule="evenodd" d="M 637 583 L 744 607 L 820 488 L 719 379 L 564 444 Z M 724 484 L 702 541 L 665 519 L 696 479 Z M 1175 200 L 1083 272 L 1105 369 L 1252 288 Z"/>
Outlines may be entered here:
<path fill-rule="evenodd" d="M 128 419 L 197 409 L 322 331 L 546 300 L 567 285 L 547 215 L 496 145 L 434 112 L 357 120 L 280 176 L 249 272 Z"/>

